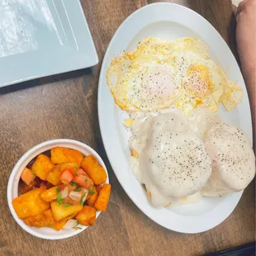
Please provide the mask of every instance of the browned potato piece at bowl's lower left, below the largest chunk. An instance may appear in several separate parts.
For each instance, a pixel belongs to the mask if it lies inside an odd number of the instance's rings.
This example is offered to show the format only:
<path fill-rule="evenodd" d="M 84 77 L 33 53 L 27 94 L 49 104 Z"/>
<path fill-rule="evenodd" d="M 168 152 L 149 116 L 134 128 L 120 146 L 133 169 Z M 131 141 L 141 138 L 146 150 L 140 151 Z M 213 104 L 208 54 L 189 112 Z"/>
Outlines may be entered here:
<path fill-rule="evenodd" d="M 27 217 L 24 219 L 24 221 L 26 225 L 36 226 L 37 228 L 42 228 L 45 226 L 52 228 L 55 226 L 55 220 L 50 209 L 43 211 L 36 216 Z"/>

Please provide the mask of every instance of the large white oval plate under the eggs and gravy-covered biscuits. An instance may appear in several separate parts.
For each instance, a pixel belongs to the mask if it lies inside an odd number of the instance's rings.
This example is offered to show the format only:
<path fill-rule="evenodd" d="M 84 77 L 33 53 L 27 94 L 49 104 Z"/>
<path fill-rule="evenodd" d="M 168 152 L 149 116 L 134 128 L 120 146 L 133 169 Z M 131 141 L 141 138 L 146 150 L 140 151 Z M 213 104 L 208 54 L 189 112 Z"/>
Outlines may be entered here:
<path fill-rule="evenodd" d="M 131 14 L 113 36 L 102 63 L 98 88 L 99 122 L 108 159 L 121 186 L 146 216 L 169 230 L 182 233 L 210 230 L 230 215 L 243 192 L 232 193 L 225 198 L 205 197 L 192 205 L 155 208 L 150 204 L 145 188 L 136 180 L 128 163 L 129 133 L 122 125 L 126 112 L 121 111 L 114 103 L 107 87 L 106 72 L 113 57 L 121 55 L 123 50 L 135 50 L 139 41 L 148 36 L 168 40 L 192 36 L 209 45 L 211 57 L 245 91 L 243 102 L 230 112 L 220 109 L 220 116 L 224 121 L 239 126 L 252 141 L 249 100 L 244 80 L 228 45 L 213 26 L 196 12 L 172 3 L 150 4 Z"/>

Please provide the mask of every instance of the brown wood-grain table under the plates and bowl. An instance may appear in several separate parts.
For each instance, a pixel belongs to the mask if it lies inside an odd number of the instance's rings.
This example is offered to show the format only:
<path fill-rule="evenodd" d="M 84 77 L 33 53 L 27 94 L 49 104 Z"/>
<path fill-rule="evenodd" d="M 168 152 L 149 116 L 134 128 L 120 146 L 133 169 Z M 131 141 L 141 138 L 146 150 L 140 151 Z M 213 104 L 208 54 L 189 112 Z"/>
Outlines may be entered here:
<path fill-rule="evenodd" d="M 126 196 L 102 145 L 97 121 L 97 82 L 103 55 L 117 27 L 147 2 L 82 2 L 100 64 L 0 89 L 0 255 L 198 255 L 253 241 L 253 184 L 227 220 L 197 235 L 164 229 Z M 206 17 L 235 52 L 235 17 L 229 0 L 169 2 L 191 7 Z M 80 140 L 96 149 L 107 163 L 112 193 L 108 211 L 96 225 L 73 238 L 50 241 L 37 239 L 17 225 L 7 206 L 6 191 L 9 175 L 21 155 L 42 141 L 56 138 Z"/>

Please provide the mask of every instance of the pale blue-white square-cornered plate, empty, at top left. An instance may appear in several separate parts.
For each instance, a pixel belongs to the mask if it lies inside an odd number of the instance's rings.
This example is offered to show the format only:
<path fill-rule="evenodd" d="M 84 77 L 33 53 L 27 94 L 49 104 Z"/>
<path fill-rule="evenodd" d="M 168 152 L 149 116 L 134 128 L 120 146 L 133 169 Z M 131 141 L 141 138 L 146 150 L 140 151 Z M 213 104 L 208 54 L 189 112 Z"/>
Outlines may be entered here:
<path fill-rule="evenodd" d="M 0 87 L 97 63 L 79 0 L 0 1 Z"/>

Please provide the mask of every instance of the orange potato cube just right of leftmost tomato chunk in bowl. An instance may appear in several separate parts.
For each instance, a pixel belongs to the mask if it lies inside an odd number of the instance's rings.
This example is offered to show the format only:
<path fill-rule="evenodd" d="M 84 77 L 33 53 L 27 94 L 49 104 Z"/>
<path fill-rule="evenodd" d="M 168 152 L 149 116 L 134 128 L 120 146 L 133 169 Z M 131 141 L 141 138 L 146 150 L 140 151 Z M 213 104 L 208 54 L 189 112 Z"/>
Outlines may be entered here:
<path fill-rule="evenodd" d="M 32 171 L 36 174 L 40 179 L 46 180 L 47 174 L 50 173 L 55 164 L 50 162 L 50 158 L 45 154 L 40 154 L 37 158 L 35 163 L 32 165 Z"/>

